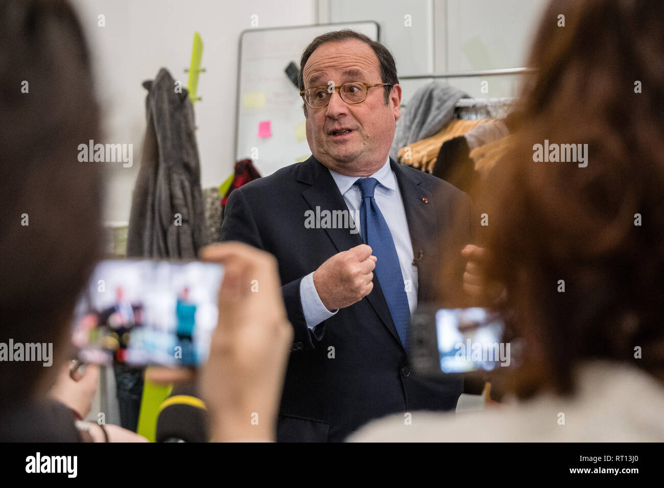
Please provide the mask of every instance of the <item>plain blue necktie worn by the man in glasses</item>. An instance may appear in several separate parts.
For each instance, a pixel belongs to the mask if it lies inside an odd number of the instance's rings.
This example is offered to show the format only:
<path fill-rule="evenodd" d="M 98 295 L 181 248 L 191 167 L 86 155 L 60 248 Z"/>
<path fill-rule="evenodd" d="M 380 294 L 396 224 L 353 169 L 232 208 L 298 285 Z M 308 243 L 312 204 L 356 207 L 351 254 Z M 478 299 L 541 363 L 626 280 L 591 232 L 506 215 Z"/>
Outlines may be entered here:
<path fill-rule="evenodd" d="M 399 256 L 396 254 L 392 233 L 380 213 L 380 208 L 374 199 L 374 191 L 378 180 L 375 178 L 361 178 L 355 181 L 362 194 L 360 206 L 360 224 L 365 244 L 373 250 L 376 260 L 374 273 L 378 278 L 380 289 L 390 309 L 396 333 L 408 351 L 408 327 L 410 327 L 410 309 L 404 285 L 404 277 L 399 266 Z"/>

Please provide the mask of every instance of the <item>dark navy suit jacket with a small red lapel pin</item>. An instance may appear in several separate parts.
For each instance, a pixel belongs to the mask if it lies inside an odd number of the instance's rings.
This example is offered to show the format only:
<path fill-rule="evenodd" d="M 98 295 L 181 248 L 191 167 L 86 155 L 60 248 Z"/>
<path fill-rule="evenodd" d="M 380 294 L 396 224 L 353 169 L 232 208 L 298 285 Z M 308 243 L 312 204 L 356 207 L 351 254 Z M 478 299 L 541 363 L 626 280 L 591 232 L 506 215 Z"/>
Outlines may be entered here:
<path fill-rule="evenodd" d="M 470 199 L 436 177 L 392 159 L 390 165 L 406 210 L 413 254 L 422 251 L 418 303 L 440 301 L 438 270 L 471 239 Z M 374 418 L 454 409 L 463 380 L 433 380 L 410 370 L 375 274 L 367 297 L 319 324 L 315 335 L 307 327 L 301 279 L 334 254 L 363 244 L 361 234 L 347 228 L 305 228 L 305 212 L 316 206 L 347 210 L 332 175 L 312 156 L 234 190 L 221 228 L 222 241 L 238 240 L 266 250 L 279 263 L 295 338 L 277 440 L 343 441 Z M 456 236 L 456 244 L 441 248 L 440 238 L 448 234 Z M 444 287 L 461 285 L 463 268 L 456 270 L 458 280 Z"/>

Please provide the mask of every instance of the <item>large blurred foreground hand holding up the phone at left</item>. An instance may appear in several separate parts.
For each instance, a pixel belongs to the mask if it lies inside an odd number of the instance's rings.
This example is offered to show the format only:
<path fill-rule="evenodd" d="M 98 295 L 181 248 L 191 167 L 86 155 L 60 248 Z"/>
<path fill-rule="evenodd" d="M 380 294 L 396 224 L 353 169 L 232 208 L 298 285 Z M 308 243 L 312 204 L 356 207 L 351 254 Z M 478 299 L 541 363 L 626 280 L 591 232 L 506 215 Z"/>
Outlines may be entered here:
<path fill-rule="evenodd" d="M 201 259 L 224 265 L 218 325 L 199 378 L 213 439 L 274 440 L 293 342 L 277 261 L 240 242 L 212 244 Z"/>

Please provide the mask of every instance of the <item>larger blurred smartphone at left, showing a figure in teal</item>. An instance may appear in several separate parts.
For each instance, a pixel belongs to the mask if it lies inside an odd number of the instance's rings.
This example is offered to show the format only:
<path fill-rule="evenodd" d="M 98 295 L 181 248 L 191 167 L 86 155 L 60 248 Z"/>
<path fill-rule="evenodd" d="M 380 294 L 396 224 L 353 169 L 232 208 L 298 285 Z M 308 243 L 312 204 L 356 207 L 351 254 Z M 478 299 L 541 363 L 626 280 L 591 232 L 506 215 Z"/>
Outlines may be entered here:
<path fill-rule="evenodd" d="M 72 341 L 84 363 L 197 366 L 218 318 L 220 264 L 104 260 L 76 305 Z"/>

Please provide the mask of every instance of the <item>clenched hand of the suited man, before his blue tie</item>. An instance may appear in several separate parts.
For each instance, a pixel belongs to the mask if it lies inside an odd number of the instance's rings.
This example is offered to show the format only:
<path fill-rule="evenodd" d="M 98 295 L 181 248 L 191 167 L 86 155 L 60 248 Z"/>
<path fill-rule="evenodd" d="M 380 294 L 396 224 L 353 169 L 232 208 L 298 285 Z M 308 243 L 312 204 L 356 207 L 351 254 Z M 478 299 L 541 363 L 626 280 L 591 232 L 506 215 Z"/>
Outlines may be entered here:
<path fill-rule="evenodd" d="M 349 307 L 369 295 L 376 259 L 367 244 L 360 244 L 321 264 L 313 273 L 313 284 L 325 308 Z"/>

